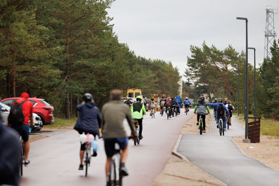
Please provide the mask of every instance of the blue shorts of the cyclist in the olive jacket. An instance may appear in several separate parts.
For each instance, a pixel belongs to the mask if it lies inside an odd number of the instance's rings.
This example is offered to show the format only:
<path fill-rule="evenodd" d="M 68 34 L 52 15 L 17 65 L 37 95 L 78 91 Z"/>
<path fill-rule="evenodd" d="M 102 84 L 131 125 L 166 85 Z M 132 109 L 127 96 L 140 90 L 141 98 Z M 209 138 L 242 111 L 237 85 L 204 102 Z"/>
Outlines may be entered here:
<path fill-rule="evenodd" d="M 125 138 L 107 138 L 104 139 L 104 147 L 107 157 L 112 157 L 115 153 L 114 144 L 118 143 L 120 149 L 123 150 L 128 145 L 128 137 Z"/>

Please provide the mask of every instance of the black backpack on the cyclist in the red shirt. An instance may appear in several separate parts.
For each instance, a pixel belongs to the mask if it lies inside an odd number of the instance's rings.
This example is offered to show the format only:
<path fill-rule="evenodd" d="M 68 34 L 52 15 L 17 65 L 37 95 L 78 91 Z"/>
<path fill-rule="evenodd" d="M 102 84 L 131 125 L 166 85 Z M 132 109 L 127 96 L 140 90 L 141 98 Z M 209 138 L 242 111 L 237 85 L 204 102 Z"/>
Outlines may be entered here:
<path fill-rule="evenodd" d="M 25 116 L 23 115 L 22 111 L 22 104 L 25 101 L 22 101 L 21 103 L 14 102 L 15 104 L 11 106 L 10 113 L 8 116 L 8 122 L 12 125 L 21 125 L 24 122 Z"/>

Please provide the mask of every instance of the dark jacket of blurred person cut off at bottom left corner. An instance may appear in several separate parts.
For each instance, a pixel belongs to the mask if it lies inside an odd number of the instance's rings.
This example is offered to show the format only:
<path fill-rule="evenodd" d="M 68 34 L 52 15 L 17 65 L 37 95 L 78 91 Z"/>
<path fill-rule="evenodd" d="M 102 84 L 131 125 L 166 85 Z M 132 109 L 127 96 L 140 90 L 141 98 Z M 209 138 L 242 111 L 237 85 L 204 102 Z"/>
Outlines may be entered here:
<path fill-rule="evenodd" d="M 0 123 L 0 185 L 19 184 L 19 157 L 20 142 L 16 131 Z"/>

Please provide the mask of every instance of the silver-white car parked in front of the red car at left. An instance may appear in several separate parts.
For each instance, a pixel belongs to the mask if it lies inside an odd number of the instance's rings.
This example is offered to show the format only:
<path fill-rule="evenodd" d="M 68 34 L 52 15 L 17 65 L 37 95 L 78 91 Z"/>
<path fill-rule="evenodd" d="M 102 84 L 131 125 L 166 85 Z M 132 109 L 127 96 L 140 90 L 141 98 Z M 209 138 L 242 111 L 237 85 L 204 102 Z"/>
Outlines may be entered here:
<path fill-rule="evenodd" d="M 1 105 L 1 111 L 0 111 L 0 115 L 1 115 L 1 118 L 2 118 L 2 123 L 4 123 L 4 125 L 7 125 L 8 123 L 8 116 L 9 116 L 9 113 L 10 113 L 10 109 L 11 107 L 9 107 L 8 105 L 0 102 L 0 105 Z M 30 122 L 30 120 L 29 120 Z M 39 131 L 43 128 L 43 122 L 41 120 L 41 118 L 33 113 L 33 123 L 35 124 L 32 128 L 32 131 Z"/>

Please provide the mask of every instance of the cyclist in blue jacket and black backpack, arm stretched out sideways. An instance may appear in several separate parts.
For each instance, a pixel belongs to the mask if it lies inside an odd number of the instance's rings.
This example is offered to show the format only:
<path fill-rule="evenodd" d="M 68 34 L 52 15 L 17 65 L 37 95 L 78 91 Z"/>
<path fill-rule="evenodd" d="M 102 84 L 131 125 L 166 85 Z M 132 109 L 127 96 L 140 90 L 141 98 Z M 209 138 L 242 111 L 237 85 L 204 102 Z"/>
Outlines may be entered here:
<path fill-rule="evenodd" d="M 220 121 L 220 117 L 223 121 L 223 130 L 226 131 L 226 115 L 225 115 L 225 111 L 226 113 L 229 115 L 229 110 L 226 108 L 226 106 L 222 103 L 222 98 L 218 98 L 217 99 L 217 103 L 207 103 L 207 105 L 209 106 L 214 106 L 217 110 L 216 113 L 216 124 L 217 124 L 217 128 L 219 128 L 219 121 Z"/>

